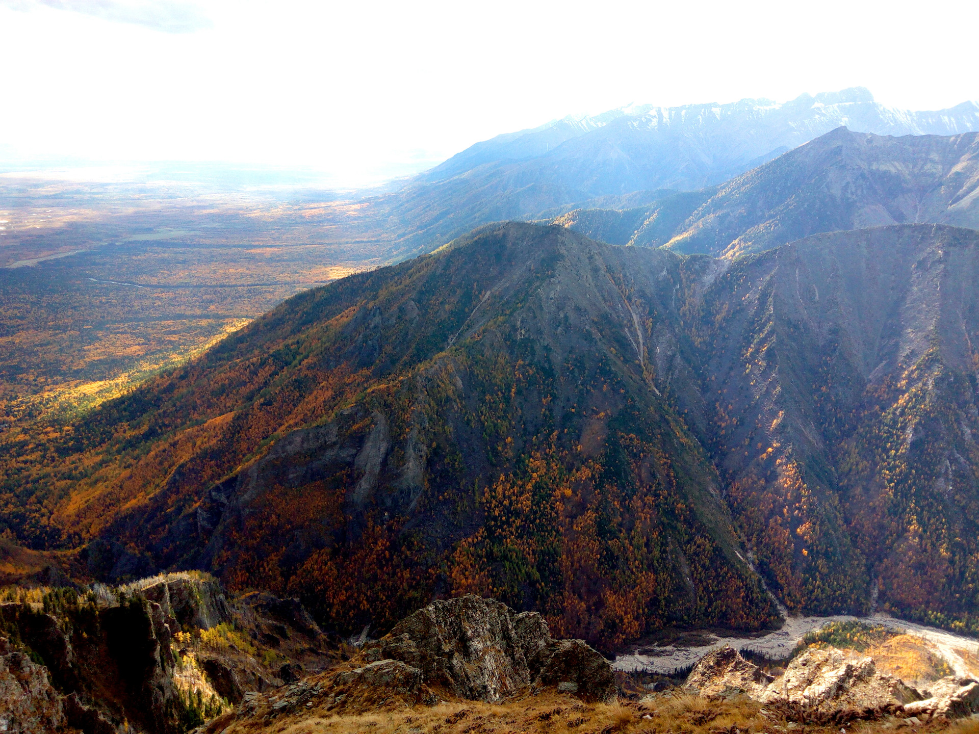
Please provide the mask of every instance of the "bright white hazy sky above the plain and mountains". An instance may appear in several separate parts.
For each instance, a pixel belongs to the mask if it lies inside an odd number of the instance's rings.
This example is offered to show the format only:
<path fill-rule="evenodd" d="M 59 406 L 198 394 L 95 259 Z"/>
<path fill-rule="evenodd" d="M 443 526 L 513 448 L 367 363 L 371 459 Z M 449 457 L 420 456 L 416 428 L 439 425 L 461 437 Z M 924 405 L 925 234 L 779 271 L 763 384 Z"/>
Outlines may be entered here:
<path fill-rule="evenodd" d="M 355 185 L 629 103 L 860 85 L 938 109 L 979 99 L 976 27 L 975 0 L 0 0 L 0 159 L 304 165 Z"/>

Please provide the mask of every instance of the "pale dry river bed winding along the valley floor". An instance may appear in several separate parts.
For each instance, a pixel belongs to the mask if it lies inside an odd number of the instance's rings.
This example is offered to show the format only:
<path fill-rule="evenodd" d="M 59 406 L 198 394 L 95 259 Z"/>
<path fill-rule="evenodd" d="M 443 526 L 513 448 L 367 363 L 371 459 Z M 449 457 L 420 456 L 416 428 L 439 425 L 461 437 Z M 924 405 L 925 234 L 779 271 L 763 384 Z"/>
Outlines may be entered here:
<path fill-rule="evenodd" d="M 968 675 L 969 668 L 962 660 L 961 653 L 976 654 L 979 652 L 979 640 L 965 637 L 953 632 L 947 632 L 925 624 L 916 624 L 902 619 L 895 619 L 878 612 L 869 617 L 789 617 L 781 629 L 765 635 L 752 637 L 721 636 L 714 631 L 698 631 L 690 635 L 681 635 L 675 643 L 635 643 L 630 652 L 616 657 L 613 667 L 616 670 L 644 670 L 656 673 L 673 673 L 676 670 L 695 665 L 701 658 L 712 650 L 724 645 L 730 645 L 736 650 L 747 650 L 759 653 L 770 660 L 787 659 L 796 644 L 807 632 L 812 632 L 830 621 L 849 621 L 860 619 L 866 624 L 882 624 L 900 632 L 906 632 L 923 638 L 952 665 L 958 675 Z M 692 638 L 693 644 L 684 643 L 683 638 Z M 698 639 L 699 638 L 699 639 Z M 697 644 L 702 643 L 702 644 Z"/>

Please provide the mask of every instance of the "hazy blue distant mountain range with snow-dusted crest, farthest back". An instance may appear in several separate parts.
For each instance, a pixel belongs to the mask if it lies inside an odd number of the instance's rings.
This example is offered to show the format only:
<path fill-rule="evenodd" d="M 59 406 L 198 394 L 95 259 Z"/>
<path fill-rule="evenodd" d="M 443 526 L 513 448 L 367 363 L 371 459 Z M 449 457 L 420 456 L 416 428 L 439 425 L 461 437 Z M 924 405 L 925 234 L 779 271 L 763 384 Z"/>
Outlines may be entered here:
<path fill-rule="evenodd" d="M 956 135 L 979 131 L 979 105 L 907 112 L 856 88 L 784 104 L 641 106 L 565 118 L 478 143 L 398 191 L 338 206 L 327 231 L 397 260 L 490 221 L 640 206 L 662 200 L 664 190 L 714 186 L 840 126 L 877 135 Z"/>

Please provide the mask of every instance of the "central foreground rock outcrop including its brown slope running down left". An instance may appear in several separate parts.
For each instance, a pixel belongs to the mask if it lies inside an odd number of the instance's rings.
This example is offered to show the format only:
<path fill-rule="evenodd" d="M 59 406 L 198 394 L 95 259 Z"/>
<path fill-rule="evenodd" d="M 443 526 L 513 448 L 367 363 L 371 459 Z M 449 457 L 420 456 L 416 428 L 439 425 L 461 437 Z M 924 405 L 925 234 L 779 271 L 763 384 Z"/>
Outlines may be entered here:
<path fill-rule="evenodd" d="M 546 687 L 593 701 L 607 701 L 616 690 L 612 666 L 582 640 L 555 640 L 540 615 L 467 595 L 402 619 L 337 669 L 268 694 L 246 693 L 206 731 L 235 722 L 267 727 L 272 718 L 288 726 L 310 716 L 434 705 L 441 698 L 495 702 Z"/>

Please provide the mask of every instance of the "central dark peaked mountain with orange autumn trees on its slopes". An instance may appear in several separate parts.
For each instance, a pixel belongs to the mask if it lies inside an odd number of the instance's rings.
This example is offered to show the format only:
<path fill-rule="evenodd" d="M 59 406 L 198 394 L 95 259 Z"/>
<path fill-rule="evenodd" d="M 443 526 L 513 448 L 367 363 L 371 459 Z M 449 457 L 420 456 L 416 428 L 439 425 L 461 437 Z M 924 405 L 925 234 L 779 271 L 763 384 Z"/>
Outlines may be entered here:
<path fill-rule="evenodd" d="M 112 539 L 114 573 L 299 593 L 344 629 L 465 591 L 606 643 L 768 623 L 716 472 L 651 386 L 678 262 L 505 224 L 351 276 L 42 456 L 5 446 L 5 517 L 35 543 Z M 663 268 L 635 310 L 629 274 Z"/>

